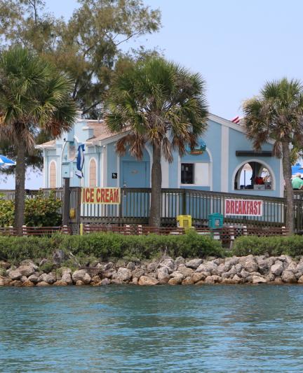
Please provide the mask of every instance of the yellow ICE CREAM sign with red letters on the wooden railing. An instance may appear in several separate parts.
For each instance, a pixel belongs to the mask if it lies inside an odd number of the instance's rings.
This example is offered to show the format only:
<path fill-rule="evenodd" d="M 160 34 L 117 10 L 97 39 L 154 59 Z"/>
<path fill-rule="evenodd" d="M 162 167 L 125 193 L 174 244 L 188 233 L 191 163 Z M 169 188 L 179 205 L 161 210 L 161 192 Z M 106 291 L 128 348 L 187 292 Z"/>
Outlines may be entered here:
<path fill-rule="evenodd" d="M 82 204 L 120 204 L 120 188 L 82 188 Z"/>

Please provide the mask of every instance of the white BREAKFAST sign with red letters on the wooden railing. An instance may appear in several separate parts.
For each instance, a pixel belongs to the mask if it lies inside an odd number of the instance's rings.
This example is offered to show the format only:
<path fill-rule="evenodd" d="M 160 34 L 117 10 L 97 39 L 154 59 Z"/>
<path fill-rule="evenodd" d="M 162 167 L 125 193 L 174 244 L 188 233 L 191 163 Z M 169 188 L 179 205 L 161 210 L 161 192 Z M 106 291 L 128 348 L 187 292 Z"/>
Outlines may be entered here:
<path fill-rule="evenodd" d="M 225 199 L 224 216 L 262 216 L 263 201 L 261 199 Z"/>

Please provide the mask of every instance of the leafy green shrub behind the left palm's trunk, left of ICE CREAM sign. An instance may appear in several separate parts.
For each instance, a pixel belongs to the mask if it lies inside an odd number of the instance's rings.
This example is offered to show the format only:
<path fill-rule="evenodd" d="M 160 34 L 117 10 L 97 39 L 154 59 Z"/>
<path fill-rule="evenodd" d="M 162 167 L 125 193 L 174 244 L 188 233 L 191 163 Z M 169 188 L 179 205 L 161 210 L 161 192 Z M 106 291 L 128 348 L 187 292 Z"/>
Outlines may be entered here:
<path fill-rule="evenodd" d="M 62 201 L 52 195 L 41 195 L 34 199 L 25 199 L 25 225 L 28 227 L 53 227 L 61 225 L 62 216 L 58 213 Z M 13 225 L 14 202 L 0 199 L 0 227 Z"/>

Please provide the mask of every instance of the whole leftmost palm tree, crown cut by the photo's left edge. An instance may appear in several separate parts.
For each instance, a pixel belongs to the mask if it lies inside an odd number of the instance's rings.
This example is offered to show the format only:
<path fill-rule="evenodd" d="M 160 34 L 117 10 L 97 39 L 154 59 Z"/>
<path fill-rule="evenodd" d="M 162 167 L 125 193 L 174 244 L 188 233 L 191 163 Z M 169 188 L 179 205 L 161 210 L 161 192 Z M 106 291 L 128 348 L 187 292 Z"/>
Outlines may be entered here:
<path fill-rule="evenodd" d="M 59 136 L 70 129 L 76 106 L 72 83 L 52 65 L 15 46 L 0 54 L 0 136 L 17 149 L 15 227 L 24 223 L 25 150 L 34 149 L 39 129 Z"/>

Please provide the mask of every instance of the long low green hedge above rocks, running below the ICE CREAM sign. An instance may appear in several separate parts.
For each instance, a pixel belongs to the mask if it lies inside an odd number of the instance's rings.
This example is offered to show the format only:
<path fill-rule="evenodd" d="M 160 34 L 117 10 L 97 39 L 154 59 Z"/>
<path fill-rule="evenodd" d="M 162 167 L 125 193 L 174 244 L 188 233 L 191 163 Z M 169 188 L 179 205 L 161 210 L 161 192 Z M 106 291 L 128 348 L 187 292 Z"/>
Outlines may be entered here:
<path fill-rule="evenodd" d="M 53 234 L 51 237 L 0 237 L 0 260 L 20 262 L 27 258 L 46 258 L 57 248 L 78 257 L 94 256 L 104 260 L 109 257 L 150 259 L 164 251 L 173 257 L 224 256 L 220 242 L 195 232 L 183 236 L 92 233 L 83 236 Z"/>

